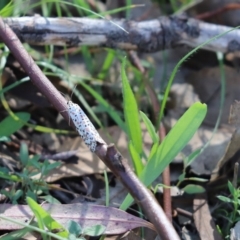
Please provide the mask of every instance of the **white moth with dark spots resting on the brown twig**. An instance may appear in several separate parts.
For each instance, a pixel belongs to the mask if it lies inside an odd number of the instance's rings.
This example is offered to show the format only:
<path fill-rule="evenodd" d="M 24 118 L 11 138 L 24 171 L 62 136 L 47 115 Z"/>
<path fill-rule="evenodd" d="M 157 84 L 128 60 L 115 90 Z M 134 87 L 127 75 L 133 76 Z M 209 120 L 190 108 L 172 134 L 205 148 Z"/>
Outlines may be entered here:
<path fill-rule="evenodd" d="M 97 142 L 104 143 L 103 139 L 100 137 L 98 131 L 90 122 L 87 115 L 76 103 L 68 101 L 67 105 L 69 116 L 72 119 L 76 130 L 90 150 L 95 152 Z"/>

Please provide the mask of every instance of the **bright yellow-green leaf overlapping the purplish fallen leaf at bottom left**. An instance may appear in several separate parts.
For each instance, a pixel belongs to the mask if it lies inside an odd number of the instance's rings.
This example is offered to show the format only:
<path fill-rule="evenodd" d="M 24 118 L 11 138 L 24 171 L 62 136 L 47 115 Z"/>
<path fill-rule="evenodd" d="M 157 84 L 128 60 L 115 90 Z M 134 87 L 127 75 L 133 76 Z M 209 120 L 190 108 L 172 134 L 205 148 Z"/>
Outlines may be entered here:
<path fill-rule="evenodd" d="M 60 231 L 57 235 L 61 237 L 68 237 L 68 232 L 65 228 L 55 221 L 47 211 L 45 211 L 39 204 L 37 204 L 33 199 L 27 197 L 27 203 L 31 210 L 33 211 L 35 217 L 38 220 L 38 223 L 43 221 L 44 225 L 48 228 L 49 231 L 58 230 Z M 38 219 L 40 217 L 40 219 Z"/>

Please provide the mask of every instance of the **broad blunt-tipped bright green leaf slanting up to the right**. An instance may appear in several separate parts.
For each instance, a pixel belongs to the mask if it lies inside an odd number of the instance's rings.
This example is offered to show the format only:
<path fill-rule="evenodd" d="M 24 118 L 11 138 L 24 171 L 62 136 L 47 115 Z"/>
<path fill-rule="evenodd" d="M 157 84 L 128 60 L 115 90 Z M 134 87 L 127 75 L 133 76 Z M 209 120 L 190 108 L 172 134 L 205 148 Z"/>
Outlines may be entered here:
<path fill-rule="evenodd" d="M 206 104 L 196 102 L 177 121 L 140 175 L 140 180 L 145 186 L 149 186 L 186 146 L 201 125 L 206 113 Z M 125 210 L 132 202 L 133 198 L 128 195 L 120 208 Z"/>

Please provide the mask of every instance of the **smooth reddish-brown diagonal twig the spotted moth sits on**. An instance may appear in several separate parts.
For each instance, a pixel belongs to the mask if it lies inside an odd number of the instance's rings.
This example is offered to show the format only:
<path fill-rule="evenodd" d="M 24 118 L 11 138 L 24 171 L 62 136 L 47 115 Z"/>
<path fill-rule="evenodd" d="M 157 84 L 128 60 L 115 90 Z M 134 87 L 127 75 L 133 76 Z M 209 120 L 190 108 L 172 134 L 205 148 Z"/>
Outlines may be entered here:
<path fill-rule="evenodd" d="M 68 122 L 68 113 L 63 111 L 67 109 L 66 100 L 42 73 L 32 57 L 24 49 L 18 37 L 13 33 L 11 28 L 3 22 L 2 18 L 0 18 L 0 38 L 29 75 L 32 83 L 38 87 Z M 73 125 L 73 123 L 71 123 L 71 125 Z M 115 147 L 113 145 L 108 146 L 103 142 L 97 145 L 95 153 L 112 172 L 120 178 L 135 200 L 141 205 L 160 237 L 166 240 L 179 240 L 179 236 L 154 196 L 136 177 L 127 164 L 127 161 L 122 160 L 121 154 L 117 152 Z"/>

